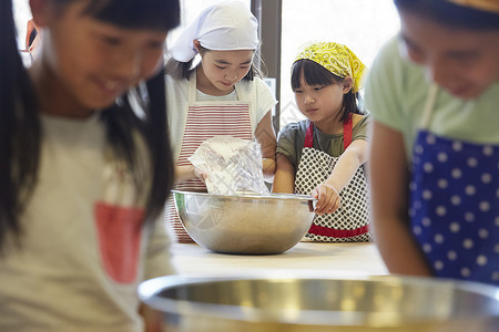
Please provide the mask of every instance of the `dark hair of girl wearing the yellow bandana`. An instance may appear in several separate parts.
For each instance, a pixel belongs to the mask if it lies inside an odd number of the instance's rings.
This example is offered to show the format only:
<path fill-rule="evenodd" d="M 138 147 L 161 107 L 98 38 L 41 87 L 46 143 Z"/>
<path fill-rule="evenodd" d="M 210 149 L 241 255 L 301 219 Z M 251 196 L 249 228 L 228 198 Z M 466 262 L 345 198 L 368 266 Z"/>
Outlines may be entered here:
<path fill-rule="evenodd" d="M 340 84 L 345 77 L 337 76 L 326 70 L 320 64 L 308 60 L 302 59 L 296 61 L 292 66 L 292 89 L 293 91 L 299 89 L 299 76 L 303 73 L 303 77 L 308 85 L 332 85 Z M 364 114 L 358 107 L 357 101 L 359 98 L 358 92 L 354 93 L 353 90 L 343 95 L 343 105 L 339 121 L 345 121 L 350 113 Z"/>

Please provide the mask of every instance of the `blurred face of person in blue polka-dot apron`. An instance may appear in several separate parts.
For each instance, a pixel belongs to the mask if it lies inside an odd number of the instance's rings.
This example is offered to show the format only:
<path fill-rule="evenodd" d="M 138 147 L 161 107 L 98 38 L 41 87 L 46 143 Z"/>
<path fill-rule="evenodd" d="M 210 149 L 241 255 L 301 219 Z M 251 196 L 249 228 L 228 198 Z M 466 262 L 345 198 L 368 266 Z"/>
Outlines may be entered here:
<path fill-rule="evenodd" d="M 450 94 L 476 98 L 499 80 L 499 31 L 450 28 L 406 10 L 400 23 L 405 55 Z"/>

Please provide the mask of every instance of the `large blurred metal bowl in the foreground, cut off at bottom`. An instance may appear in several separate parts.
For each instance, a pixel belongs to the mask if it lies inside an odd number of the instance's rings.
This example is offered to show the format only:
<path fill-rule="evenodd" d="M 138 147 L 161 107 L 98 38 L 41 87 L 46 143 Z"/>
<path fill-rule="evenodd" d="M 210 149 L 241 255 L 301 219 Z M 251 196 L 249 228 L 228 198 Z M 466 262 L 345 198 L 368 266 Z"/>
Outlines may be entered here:
<path fill-rule="evenodd" d="M 167 331 L 497 332 L 499 289 L 429 278 L 265 277 L 143 282 Z"/>

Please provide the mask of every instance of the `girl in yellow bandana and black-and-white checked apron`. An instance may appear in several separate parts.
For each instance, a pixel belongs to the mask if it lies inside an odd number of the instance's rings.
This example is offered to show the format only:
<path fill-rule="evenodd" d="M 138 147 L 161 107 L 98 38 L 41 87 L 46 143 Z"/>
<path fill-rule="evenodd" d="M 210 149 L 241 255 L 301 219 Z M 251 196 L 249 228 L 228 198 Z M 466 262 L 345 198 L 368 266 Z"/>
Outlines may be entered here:
<path fill-rule="evenodd" d="M 306 238 L 313 241 L 367 241 L 369 117 L 357 106 L 365 65 L 345 45 L 316 42 L 303 48 L 292 68 L 292 87 L 306 121 L 278 135 L 274 193 L 317 198 Z"/>

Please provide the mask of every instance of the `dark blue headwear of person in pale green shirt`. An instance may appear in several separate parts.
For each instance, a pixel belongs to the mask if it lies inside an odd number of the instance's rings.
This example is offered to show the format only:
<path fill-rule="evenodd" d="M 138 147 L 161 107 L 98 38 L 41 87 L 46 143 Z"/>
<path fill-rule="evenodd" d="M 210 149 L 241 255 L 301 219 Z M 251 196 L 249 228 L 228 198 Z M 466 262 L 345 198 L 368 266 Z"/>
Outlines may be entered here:
<path fill-rule="evenodd" d="M 446 0 L 394 0 L 400 10 L 409 10 L 438 23 L 471 30 L 499 29 L 499 14 L 464 7 Z"/>

